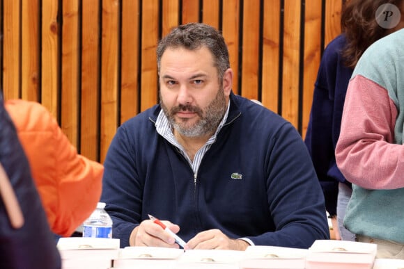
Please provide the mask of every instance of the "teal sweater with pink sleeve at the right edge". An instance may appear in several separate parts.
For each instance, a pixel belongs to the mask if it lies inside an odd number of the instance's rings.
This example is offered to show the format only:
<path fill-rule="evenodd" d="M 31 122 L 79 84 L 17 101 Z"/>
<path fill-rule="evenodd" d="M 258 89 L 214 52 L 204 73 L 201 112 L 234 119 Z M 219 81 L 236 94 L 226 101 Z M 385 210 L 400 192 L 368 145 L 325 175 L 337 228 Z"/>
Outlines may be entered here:
<path fill-rule="evenodd" d="M 344 225 L 404 243 L 404 29 L 373 43 L 348 85 L 336 163 L 352 182 Z"/>

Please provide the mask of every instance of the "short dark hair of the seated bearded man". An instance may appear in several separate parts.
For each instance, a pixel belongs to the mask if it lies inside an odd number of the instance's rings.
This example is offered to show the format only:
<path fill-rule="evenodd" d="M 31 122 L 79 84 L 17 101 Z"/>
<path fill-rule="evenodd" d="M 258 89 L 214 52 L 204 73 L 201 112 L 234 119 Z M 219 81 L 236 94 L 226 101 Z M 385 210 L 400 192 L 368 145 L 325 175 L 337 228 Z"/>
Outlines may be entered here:
<path fill-rule="evenodd" d="M 219 80 L 230 68 L 228 49 L 222 33 L 216 28 L 203 23 L 182 24 L 160 40 L 157 46 L 157 68 L 160 74 L 160 63 L 164 51 L 168 48 L 185 48 L 191 51 L 206 47 L 215 60 Z"/>

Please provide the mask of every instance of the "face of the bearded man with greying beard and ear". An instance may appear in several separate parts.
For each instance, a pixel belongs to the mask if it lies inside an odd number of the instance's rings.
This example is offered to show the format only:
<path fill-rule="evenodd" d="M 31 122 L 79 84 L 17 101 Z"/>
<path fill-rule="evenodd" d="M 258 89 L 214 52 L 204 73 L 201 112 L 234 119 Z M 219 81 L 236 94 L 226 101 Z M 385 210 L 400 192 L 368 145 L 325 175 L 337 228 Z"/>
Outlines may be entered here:
<path fill-rule="evenodd" d="M 219 83 L 217 67 L 205 47 L 167 49 L 160 63 L 160 104 L 182 136 L 210 136 L 226 111 L 231 70 Z"/>

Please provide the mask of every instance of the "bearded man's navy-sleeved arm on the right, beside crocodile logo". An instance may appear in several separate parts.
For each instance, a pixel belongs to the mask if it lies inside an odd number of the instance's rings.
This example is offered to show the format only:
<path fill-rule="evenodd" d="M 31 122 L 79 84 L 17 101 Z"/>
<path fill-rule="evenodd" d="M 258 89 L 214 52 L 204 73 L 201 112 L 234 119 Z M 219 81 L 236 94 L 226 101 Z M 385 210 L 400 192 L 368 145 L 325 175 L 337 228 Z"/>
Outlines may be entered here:
<path fill-rule="evenodd" d="M 324 196 L 301 136 L 285 124 L 271 142 L 267 199 L 277 231 L 247 238 L 255 245 L 301 248 L 329 239 Z"/>

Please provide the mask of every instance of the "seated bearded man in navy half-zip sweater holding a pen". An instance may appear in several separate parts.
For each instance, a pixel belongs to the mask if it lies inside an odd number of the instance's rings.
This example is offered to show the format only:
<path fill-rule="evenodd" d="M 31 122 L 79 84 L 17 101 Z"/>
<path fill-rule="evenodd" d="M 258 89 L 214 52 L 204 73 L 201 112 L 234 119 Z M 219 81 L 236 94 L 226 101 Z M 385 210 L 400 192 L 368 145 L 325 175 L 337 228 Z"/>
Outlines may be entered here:
<path fill-rule="evenodd" d="M 118 128 L 104 161 L 102 202 L 121 247 L 178 248 L 172 233 L 185 250 L 307 248 L 329 238 L 302 137 L 233 94 L 217 29 L 174 28 L 158 44 L 157 68 L 160 104 Z"/>

